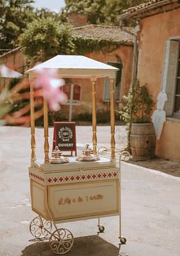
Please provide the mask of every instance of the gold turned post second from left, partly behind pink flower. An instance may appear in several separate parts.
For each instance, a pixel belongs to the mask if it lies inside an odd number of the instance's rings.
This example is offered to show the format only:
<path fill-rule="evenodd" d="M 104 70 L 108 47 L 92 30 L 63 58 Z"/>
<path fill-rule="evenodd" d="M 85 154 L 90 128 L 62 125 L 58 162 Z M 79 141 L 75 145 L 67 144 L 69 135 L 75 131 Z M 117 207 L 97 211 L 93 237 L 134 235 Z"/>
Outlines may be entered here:
<path fill-rule="evenodd" d="M 45 163 L 49 163 L 49 142 L 48 142 L 48 106 L 47 100 L 43 100 L 43 110 L 44 110 L 44 151 L 45 151 Z"/>

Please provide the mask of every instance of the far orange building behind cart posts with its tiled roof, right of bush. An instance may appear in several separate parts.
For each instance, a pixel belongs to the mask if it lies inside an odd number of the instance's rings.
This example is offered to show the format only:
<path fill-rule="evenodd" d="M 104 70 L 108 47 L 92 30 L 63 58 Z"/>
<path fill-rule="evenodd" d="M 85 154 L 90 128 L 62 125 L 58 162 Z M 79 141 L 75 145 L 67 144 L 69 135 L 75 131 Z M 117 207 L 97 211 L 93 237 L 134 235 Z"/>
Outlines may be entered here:
<path fill-rule="evenodd" d="M 109 41 L 120 42 L 120 47 L 107 53 L 100 50 L 86 54 L 86 57 L 94 60 L 114 65 L 119 68 L 115 85 L 116 110 L 119 110 L 123 95 L 128 92 L 132 78 L 132 58 L 133 58 L 133 36 L 123 31 L 119 27 L 87 25 L 74 28 L 73 34 L 83 38 L 101 38 Z M 74 105 L 74 114 L 81 112 L 91 112 L 91 82 L 89 80 L 74 80 L 74 84 L 81 86 L 79 106 Z M 99 78 L 96 88 L 96 102 L 99 111 L 106 111 L 109 107 L 110 92 L 108 79 Z"/>

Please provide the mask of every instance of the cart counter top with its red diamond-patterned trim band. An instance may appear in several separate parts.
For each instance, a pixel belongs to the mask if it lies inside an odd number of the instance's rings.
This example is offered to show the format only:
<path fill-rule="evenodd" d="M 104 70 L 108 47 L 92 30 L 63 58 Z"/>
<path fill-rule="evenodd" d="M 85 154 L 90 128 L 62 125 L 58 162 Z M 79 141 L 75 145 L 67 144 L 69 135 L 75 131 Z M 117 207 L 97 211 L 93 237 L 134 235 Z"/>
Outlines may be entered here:
<path fill-rule="evenodd" d="M 29 168 L 30 178 L 44 184 L 62 184 L 86 181 L 105 181 L 118 178 L 116 162 L 101 158 L 99 161 L 76 161 L 69 158 L 67 164 L 40 164 L 35 161 Z"/>

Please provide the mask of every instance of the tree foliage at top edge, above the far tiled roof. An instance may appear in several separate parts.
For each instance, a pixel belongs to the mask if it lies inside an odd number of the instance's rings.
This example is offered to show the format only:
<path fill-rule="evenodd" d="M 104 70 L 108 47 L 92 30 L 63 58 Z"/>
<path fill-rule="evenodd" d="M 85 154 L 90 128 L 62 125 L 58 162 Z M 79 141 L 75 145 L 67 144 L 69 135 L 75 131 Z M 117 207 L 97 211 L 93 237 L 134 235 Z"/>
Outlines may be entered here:
<path fill-rule="evenodd" d="M 66 9 L 86 14 L 89 23 L 118 26 L 118 15 L 124 9 L 149 0 L 65 0 Z"/>

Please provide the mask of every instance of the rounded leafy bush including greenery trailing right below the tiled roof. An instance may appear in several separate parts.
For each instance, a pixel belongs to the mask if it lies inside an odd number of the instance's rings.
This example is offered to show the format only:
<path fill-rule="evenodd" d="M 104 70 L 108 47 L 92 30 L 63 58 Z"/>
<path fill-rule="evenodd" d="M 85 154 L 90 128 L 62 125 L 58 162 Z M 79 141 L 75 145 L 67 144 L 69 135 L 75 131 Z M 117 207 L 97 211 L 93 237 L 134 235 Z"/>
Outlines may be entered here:
<path fill-rule="evenodd" d="M 45 61 L 57 54 L 77 54 L 111 52 L 120 42 L 101 38 L 77 37 L 69 23 L 62 23 L 57 17 L 38 18 L 23 31 L 18 38 L 19 46 L 30 65 Z"/>

